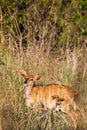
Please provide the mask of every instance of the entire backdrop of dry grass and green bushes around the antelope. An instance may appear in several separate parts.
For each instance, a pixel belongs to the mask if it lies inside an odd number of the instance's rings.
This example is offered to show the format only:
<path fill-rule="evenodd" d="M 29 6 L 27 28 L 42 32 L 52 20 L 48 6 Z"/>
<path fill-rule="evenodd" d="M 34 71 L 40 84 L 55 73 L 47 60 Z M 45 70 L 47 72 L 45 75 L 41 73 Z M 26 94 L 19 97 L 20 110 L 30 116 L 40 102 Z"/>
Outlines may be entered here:
<path fill-rule="evenodd" d="M 79 92 L 87 129 L 87 0 L 0 0 L 0 130 L 71 130 L 67 115 L 27 110 L 19 68 Z"/>

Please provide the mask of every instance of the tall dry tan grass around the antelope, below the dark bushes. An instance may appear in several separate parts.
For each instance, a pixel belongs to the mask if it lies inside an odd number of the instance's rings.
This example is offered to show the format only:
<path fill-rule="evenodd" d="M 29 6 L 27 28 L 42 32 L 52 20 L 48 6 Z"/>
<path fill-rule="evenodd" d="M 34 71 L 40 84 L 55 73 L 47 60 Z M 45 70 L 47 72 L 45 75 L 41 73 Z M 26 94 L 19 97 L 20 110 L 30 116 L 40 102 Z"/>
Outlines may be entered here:
<path fill-rule="evenodd" d="M 62 50 L 63 51 L 63 50 Z M 3 130 L 71 130 L 70 118 L 61 113 L 27 109 L 24 105 L 22 90 L 23 78 L 19 68 L 26 69 L 31 74 L 44 73 L 40 84 L 61 82 L 79 92 L 77 130 L 87 128 L 87 72 L 86 48 L 67 49 L 61 55 L 50 54 L 35 46 L 19 50 L 9 45 L 0 45 L 0 115 Z M 44 115 L 47 112 L 46 115 Z M 44 116 L 43 116 L 44 115 Z"/>

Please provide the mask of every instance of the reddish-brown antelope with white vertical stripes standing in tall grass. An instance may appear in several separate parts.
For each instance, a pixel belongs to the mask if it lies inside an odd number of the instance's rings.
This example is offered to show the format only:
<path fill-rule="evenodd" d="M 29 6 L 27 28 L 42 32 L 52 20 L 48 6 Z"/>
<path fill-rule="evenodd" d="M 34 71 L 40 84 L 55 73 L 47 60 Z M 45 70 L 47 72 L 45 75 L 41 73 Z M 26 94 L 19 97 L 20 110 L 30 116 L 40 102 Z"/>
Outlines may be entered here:
<path fill-rule="evenodd" d="M 76 128 L 77 104 L 75 98 L 78 95 L 76 90 L 61 84 L 38 86 L 35 85 L 35 81 L 42 77 L 41 74 L 33 76 L 27 74 L 23 69 L 20 69 L 19 72 L 25 78 L 24 99 L 26 106 L 31 106 L 32 104 L 36 107 L 42 102 L 47 109 L 52 110 L 55 108 L 56 111 L 60 109 L 71 117 Z M 57 99 L 60 99 L 60 104 L 57 104 Z"/>

